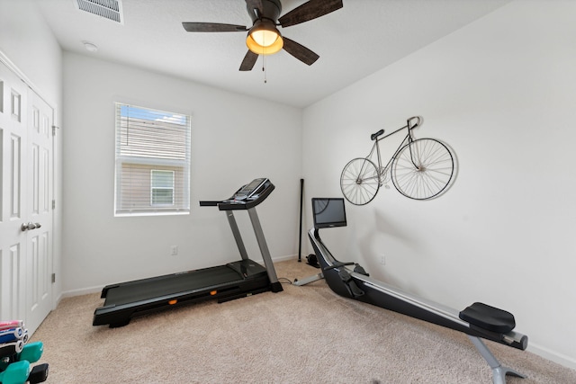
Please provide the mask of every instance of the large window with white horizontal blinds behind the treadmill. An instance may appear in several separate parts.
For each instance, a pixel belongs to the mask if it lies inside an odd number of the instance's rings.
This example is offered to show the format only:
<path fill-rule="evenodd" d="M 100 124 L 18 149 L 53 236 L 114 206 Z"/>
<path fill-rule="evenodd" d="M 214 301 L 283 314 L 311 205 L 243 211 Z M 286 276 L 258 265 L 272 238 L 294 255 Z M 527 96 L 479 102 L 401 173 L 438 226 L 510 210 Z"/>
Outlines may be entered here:
<path fill-rule="evenodd" d="M 116 216 L 190 212 L 190 117 L 116 103 Z"/>

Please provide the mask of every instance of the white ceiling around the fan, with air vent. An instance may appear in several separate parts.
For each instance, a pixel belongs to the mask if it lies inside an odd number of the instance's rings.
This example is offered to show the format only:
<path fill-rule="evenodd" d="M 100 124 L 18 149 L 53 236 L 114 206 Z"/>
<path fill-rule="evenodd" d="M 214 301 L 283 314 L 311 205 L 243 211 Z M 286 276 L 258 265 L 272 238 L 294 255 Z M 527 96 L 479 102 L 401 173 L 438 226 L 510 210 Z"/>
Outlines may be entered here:
<path fill-rule="evenodd" d="M 305 107 L 425 47 L 510 0 L 344 0 L 344 8 L 279 30 L 320 55 L 311 67 L 284 50 L 238 67 L 246 32 L 189 33 L 182 22 L 251 26 L 244 0 L 121 0 L 123 23 L 76 0 L 35 0 L 62 49 Z M 287 13 L 305 0 L 283 0 Z M 85 50 L 83 41 L 98 47 Z"/>

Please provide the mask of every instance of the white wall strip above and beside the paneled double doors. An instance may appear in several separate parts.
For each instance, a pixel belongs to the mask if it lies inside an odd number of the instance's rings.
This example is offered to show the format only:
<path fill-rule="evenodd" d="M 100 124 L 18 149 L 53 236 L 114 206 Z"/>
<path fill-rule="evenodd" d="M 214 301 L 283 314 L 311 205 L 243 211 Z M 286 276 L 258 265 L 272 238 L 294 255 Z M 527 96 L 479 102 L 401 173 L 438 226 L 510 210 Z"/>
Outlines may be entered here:
<path fill-rule="evenodd" d="M 62 52 L 58 41 L 31 0 L 0 0 L 0 52 L 17 67 L 34 91 L 39 93 L 55 109 L 54 124 L 61 125 L 62 99 Z M 55 153 L 55 194 L 61 202 L 62 159 L 60 148 L 62 137 L 56 137 Z M 54 211 L 53 227 L 53 272 L 57 280 L 53 285 L 54 301 L 61 292 L 60 255 L 61 244 L 61 204 Z"/>

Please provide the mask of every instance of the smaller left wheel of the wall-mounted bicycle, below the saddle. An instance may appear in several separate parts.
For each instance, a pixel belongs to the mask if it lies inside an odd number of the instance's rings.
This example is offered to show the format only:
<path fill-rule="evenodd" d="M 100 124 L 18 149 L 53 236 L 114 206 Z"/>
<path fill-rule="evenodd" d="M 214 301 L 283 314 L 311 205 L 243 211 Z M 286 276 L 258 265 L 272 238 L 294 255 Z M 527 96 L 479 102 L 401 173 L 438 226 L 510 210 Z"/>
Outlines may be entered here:
<path fill-rule="evenodd" d="M 342 170 L 340 189 L 346 200 L 355 205 L 365 205 L 372 201 L 379 188 L 378 168 L 367 158 L 350 160 Z"/>

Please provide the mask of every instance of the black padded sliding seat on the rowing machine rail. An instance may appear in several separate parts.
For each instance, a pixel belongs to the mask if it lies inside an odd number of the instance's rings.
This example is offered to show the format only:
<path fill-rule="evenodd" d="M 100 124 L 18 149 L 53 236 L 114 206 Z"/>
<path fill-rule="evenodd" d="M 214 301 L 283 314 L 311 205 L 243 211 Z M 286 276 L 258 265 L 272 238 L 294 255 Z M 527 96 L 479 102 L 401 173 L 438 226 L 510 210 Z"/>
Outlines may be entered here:
<path fill-rule="evenodd" d="M 474 326 L 500 334 L 506 334 L 516 326 L 514 315 L 508 311 L 479 302 L 465 308 L 459 317 Z"/>

